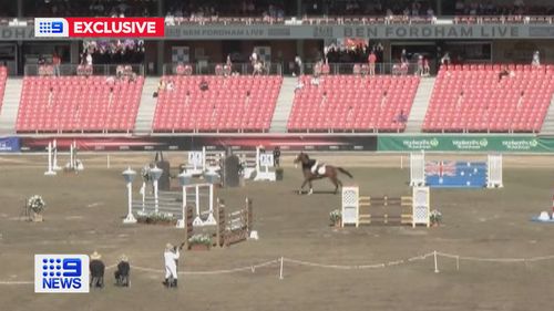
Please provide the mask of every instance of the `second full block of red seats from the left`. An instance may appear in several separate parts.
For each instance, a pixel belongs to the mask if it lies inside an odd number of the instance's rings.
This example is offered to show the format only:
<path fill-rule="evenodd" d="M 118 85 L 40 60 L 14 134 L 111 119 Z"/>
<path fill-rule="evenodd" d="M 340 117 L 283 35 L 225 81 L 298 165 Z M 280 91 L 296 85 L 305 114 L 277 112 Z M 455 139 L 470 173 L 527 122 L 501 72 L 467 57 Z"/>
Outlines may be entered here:
<path fill-rule="evenodd" d="M 164 76 L 154 132 L 265 132 L 279 95 L 280 76 Z M 207 90 L 199 87 L 207 83 Z"/>

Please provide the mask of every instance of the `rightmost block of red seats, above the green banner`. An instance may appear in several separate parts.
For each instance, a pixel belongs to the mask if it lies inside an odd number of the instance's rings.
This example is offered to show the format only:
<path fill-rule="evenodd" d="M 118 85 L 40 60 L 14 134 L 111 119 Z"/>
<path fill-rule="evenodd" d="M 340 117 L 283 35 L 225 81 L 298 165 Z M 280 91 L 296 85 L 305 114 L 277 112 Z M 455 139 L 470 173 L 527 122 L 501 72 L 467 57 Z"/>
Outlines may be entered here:
<path fill-rule="evenodd" d="M 540 132 L 554 94 L 554 66 L 441 69 L 424 132 Z"/>

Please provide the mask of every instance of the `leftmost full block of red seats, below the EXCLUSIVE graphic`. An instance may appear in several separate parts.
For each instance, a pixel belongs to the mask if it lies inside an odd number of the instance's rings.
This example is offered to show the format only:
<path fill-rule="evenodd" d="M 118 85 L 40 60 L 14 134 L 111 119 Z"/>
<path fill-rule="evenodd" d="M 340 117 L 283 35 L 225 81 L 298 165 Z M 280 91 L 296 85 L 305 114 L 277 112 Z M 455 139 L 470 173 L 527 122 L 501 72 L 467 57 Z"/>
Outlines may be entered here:
<path fill-rule="evenodd" d="M 25 77 L 16 128 L 28 132 L 131 132 L 144 79 Z"/>

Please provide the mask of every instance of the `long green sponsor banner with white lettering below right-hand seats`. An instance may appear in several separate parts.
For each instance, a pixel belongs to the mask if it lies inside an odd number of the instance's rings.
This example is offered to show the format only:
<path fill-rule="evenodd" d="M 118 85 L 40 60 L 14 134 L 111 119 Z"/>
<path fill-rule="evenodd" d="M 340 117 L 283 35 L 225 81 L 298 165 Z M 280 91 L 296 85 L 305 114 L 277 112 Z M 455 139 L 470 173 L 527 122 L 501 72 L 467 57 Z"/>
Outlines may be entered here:
<path fill-rule="evenodd" d="M 534 136 L 379 136 L 379 152 L 554 153 L 554 139 Z"/>

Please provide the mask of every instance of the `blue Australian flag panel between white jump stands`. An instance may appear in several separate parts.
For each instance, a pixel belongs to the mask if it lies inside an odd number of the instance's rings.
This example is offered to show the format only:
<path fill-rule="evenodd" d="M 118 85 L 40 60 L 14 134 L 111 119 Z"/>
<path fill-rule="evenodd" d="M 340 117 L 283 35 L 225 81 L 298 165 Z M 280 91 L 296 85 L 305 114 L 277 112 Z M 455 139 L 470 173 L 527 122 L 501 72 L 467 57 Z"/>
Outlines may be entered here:
<path fill-rule="evenodd" d="M 428 160 L 425 184 L 430 187 L 486 187 L 486 163 Z"/>

